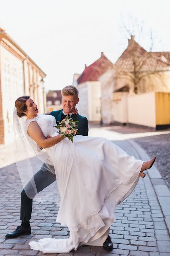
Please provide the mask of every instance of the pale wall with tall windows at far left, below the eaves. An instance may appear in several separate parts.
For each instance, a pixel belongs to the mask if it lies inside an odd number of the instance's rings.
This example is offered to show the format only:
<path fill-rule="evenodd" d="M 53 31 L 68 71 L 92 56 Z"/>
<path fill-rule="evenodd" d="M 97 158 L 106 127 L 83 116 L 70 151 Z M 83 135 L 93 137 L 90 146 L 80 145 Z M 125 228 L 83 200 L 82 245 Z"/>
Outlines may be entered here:
<path fill-rule="evenodd" d="M 24 95 L 23 62 L 0 45 L 0 63 L 4 142 L 8 143 L 12 139 L 14 102 Z"/>

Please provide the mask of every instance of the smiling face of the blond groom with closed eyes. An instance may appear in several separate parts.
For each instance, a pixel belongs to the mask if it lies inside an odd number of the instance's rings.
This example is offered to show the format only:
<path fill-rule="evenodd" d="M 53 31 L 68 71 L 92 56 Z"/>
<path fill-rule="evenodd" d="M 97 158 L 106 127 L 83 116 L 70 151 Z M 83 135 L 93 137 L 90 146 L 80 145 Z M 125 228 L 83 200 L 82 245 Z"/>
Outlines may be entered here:
<path fill-rule="evenodd" d="M 75 110 L 79 98 L 74 95 L 62 96 L 62 108 L 65 114 L 72 113 Z"/>

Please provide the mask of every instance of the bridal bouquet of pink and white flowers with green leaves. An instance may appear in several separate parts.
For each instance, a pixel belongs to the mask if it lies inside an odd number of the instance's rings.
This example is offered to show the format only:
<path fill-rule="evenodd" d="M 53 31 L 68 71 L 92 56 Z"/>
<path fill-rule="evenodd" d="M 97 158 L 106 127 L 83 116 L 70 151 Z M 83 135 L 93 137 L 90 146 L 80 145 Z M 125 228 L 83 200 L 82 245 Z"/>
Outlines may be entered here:
<path fill-rule="evenodd" d="M 57 122 L 58 125 L 54 127 L 59 129 L 58 133 L 61 134 L 62 137 L 67 137 L 69 140 L 73 142 L 73 137 L 79 134 L 77 129 L 77 123 L 79 121 L 74 121 L 72 118 L 66 116 L 64 120 Z"/>

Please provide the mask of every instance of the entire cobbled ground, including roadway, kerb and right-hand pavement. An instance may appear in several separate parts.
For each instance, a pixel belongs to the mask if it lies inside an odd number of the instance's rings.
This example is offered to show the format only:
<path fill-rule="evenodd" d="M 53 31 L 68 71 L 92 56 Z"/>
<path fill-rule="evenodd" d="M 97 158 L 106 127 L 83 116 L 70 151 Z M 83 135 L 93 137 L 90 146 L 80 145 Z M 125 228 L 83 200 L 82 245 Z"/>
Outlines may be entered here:
<path fill-rule="evenodd" d="M 16 165 L 11 164 L 1 165 L 4 167 L 0 169 L 0 256 L 170 256 L 170 190 L 167 188 L 170 187 L 167 177 L 170 174 L 170 132 L 153 132 L 157 134 L 153 136 L 147 131 L 142 136 L 141 130 L 135 132 L 134 129 L 126 129 L 96 127 L 89 132 L 89 136 L 107 137 L 138 159 L 146 160 L 148 155 L 157 156 L 156 165 L 148 171 L 144 179 L 139 179 L 133 193 L 123 202 L 122 207 L 116 208 L 116 221 L 110 229 L 113 251 L 106 252 L 102 247 L 90 246 L 59 254 L 43 254 L 31 250 L 29 241 L 69 236 L 68 228 L 56 223 L 58 207 L 50 202 L 34 202 L 31 235 L 5 239 L 6 233 L 20 225 L 22 185 Z"/>

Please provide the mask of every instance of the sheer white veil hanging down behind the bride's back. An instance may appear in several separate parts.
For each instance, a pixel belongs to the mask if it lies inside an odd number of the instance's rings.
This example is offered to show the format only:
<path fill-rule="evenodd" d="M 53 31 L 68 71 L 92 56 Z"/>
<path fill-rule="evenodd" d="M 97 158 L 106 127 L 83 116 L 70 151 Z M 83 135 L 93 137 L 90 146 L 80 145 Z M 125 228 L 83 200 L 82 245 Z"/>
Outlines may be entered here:
<path fill-rule="evenodd" d="M 14 108 L 13 113 L 13 144 L 13 161 L 16 163 L 28 198 L 39 202 L 57 202 L 59 205 L 60 195 L 54 165 L 45 149 L 40 149 L 37 143 L 29 137 L 27 134 L 26 116 L 17 116 L 16 108 Z M 41 172 L 40 175 L 38 172 Z M 41 180 L 41 178 L 43 179 Z M 41 191 L 43 182 L 50 185 Z"/>

